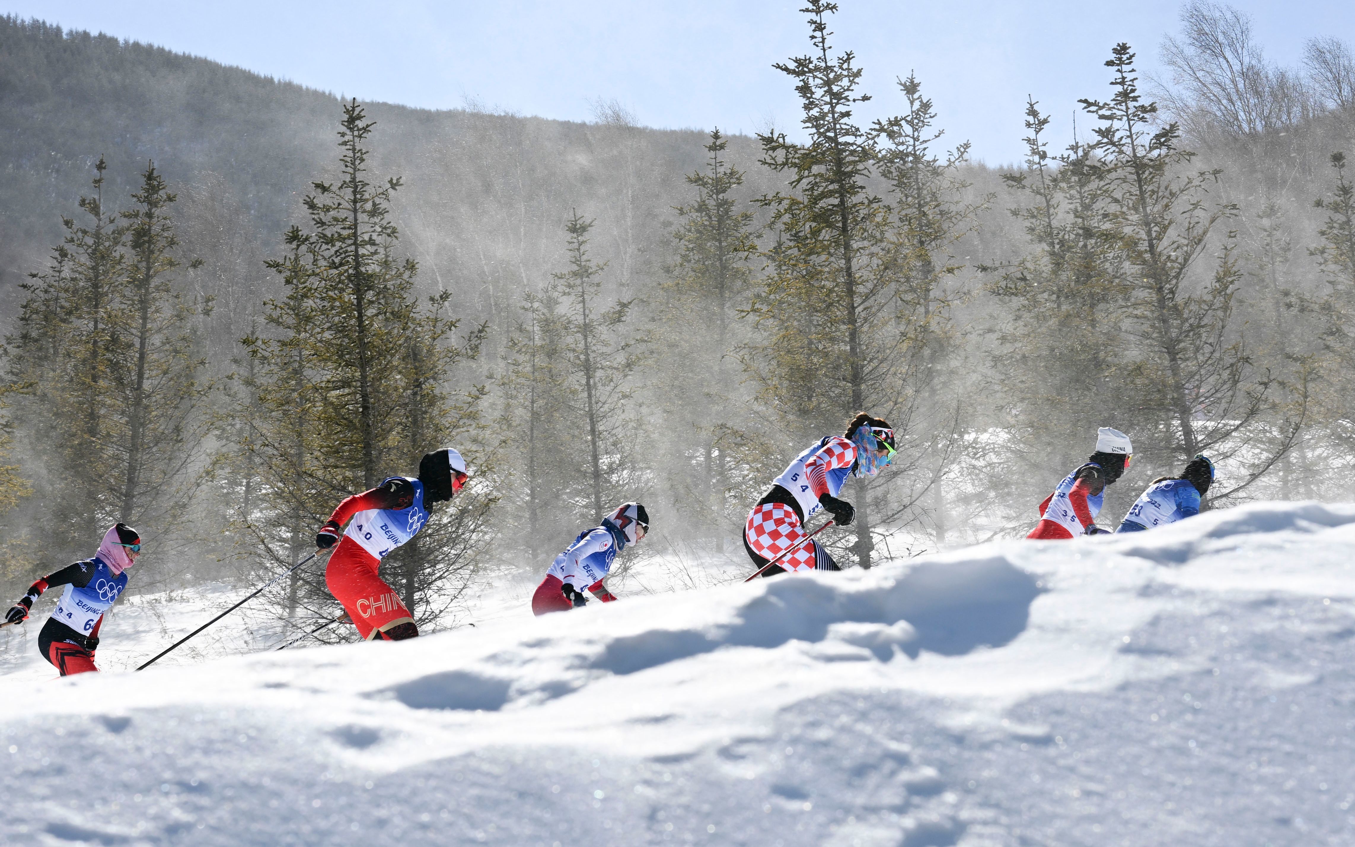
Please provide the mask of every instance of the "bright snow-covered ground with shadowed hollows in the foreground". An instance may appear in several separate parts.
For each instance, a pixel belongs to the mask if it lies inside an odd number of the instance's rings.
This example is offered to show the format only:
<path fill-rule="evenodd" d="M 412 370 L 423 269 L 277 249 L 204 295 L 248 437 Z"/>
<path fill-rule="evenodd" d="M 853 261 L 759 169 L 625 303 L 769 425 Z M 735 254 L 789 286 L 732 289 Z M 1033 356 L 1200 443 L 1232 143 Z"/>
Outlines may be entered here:
<path fill-rule="evenodd" d="M 1355 844 L 1352 552 L 1271 503 L 141 674 L 0 636 L 5 840 Z M 145 606 L 104 667 L 186 632 Z"/>

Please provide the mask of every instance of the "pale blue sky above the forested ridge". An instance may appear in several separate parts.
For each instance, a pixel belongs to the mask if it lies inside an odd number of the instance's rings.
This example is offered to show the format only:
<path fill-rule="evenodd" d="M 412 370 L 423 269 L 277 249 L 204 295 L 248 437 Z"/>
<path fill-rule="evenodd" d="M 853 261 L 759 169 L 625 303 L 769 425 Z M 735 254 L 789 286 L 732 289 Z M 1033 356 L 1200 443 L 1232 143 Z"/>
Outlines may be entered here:
<path fill-rule="evenodd" d="M 335 94 L 430 108 L 474 98 L 524 115 L 589 119 L 617 99 L 641 123 L 790 129 L 798 107 L 771 64 L 808 49 L 798 0 L 0 0 L 0 9 L 206 56 Z M 896 76 L 916 70 L 946 141 L 989 164 L 1022 156 L 1031 94 L 1066 136 L 1077 98 L 1102 96 L 1100 66 L 1129 41 L 1156 66 L 1176 0 L 841 0 L 837 46 L 855 50 L 875 96 L 898 111 Z M 1313 35 L 1355 42 L 1351 0 L 1238 0 L 1267 54 L 1295 64 Z M 1131 7 L 1131 11 L 1123 9 Z"/>

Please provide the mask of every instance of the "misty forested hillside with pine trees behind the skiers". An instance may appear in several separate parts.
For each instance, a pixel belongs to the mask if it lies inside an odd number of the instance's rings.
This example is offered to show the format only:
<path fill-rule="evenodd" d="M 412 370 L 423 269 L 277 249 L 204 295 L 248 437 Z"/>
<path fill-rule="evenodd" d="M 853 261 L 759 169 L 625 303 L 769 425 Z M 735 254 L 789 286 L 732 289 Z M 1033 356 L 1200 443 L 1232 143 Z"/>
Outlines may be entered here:
<path fill-rule="evenodd" d="M 1100 426 L 1135 445 L 1111 523 L 1198 453 L 1221 469 L 1206 507 L 1351 496 L 1346 45 L 1274 66 L 1245 18 L 1188 4 L 1163 79 L 1134 53 L 1156 45 L 1085 69 L 1070 148 L 1045 115 L 1075 104 L 1014 103 L 1030 159 L 1003 172 L 943 134 L 906 57 L 904 111 L 854 123 L 870 92 L 812 8 L 783 68 L 804 125 L 759 137 L 618 104 L 354 103 L 0 20 L 11 579 L 121 518 L 173 539 L 146 585 L 248 581 L 455 442 L 472 493 L 388 568 L 436 622 L 476 568 L 545 568 L 599 503 L 650 504 L 665 550 L 741 557 L 770 480 L 859 409 L 898 451 L 846 489 L 843 565 L 1023 534 Z M 378 325 L 350 321 L 336 268 Z M 160 323 L 133 327 L 137 304 Z M 118 382 L 137 344 L 150 389 Z M 356 369 L 369 344 L 385 370 Z M 278 607 L 322 617 L 317 580 Z"/>

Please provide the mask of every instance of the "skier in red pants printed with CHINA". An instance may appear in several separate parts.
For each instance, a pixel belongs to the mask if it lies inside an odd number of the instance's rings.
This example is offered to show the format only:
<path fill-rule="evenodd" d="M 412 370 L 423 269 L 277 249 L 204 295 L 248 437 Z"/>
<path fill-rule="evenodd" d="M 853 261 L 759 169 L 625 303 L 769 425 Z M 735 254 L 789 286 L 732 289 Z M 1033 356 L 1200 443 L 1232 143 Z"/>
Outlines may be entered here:
<path fill-rule="evenodd" d="M 389 477 L 340 503 L 320 527 L 317 548 L 339 545 L 325 566 L 325 585 L 343 603 L 363 638 L 402 641 L 419 634 L 400 595 L 377 571 L 388 553 L 423 529 L 428 507 L 451 500 L 467 478 L 466 461 L 451 447 L 427 453 L 419 462 L 417 478 Z M 350 518 L 352 522 L 343 531 Z"/>

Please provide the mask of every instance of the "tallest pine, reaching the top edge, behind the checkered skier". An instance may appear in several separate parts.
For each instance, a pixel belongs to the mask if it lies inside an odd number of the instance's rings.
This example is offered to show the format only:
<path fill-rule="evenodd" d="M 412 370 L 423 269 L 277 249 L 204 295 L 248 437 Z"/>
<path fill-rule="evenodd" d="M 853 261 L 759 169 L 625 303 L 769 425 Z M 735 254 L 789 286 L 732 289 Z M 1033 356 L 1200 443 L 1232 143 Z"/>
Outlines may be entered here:
<path fill-rule="evenodd" d="M 851 51 L 835 53 L 827 16 L 835 3 L 810 0 L 813 53 L 775 65 L 797 81 L 806 144 L 785 133 L 760 134 L 763 164 L 789 176 L 786 192 L 763 197 L 778 243 L 771 272 L 753 298 L 766 342 L 756 351 L 764 400 L 804 435 L 835 432 L 862 409 L 882 405 L 896 388 L 900 342 L 893 286 L 883 267 L 889 209 L 871 192 L 877 129 L 852 122 L 870 100 Z M 863 568 L 874 542 L 864 481 L 858 497 L 852 552 Z"/>

